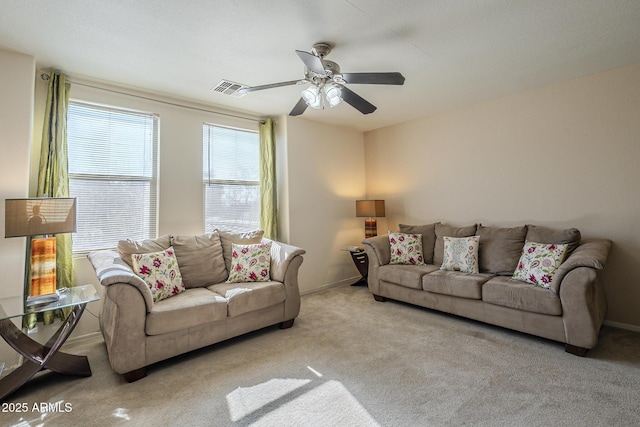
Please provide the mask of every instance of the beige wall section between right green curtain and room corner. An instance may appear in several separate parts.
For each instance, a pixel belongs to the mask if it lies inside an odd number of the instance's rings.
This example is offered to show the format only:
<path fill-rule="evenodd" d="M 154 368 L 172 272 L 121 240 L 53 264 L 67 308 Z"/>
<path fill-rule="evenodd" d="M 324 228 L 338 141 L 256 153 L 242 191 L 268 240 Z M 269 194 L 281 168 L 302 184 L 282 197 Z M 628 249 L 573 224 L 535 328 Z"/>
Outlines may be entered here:
<path fill-rule="evenodd" d="M 286 119 L 288 230 L 307 251 L 300 291 L 355 281 L 358 272 L 341 249 L 364 238 L 355 200 L 364 198 L 364 142 L 360 132 Z"/>

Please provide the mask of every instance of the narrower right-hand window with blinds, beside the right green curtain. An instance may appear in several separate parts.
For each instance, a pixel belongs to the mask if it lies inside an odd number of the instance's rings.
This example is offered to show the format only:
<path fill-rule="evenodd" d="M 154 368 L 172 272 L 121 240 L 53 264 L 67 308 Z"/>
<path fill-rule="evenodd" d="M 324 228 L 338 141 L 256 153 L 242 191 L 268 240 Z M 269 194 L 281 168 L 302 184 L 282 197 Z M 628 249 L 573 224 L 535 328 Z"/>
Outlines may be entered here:
<path fill-rule="evenodd" d="M 260 227 L 259 143 L 257 132 L 204 124 L 205 232 Z"/>

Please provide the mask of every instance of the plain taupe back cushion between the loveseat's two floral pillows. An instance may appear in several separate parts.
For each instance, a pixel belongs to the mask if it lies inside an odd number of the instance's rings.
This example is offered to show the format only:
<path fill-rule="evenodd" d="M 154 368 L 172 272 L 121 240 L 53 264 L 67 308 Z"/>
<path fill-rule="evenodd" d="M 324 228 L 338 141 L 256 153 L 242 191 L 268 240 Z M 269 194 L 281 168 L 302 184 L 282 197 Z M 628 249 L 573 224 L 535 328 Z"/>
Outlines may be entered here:
<path fill-rule="evenodd" d="M 173 236 L 171 246 L 187 288 L 210 286 L 226 280 L 228 273 L 217 231 L 199 236 Z"/>

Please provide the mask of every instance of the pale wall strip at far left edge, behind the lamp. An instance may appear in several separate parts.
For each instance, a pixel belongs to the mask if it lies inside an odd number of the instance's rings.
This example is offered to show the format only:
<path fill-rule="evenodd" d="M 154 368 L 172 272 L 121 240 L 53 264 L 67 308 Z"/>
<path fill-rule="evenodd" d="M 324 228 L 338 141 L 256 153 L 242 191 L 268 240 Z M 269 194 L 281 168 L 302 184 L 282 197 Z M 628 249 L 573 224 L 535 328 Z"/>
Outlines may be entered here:
<path fill-rule="evenodd" d="M 29 195 L 34 72 L 33 57 L 0 50 L 0 298 L 22 295 L 24 289 L 26 238 L 4 238 L 4 200 Z"/>

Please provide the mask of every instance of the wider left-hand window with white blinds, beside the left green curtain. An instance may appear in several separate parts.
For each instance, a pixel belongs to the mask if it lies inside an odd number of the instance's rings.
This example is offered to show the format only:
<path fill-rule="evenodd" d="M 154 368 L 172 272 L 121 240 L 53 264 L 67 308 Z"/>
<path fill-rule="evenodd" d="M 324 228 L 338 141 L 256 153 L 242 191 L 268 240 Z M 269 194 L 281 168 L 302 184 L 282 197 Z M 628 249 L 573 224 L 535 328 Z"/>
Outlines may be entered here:
<path fill-rule="evenodd" d="M 156 237 L 158 116 L 72 101 L 67 145 L 73 251 Z"/>

